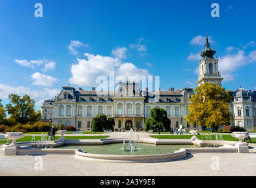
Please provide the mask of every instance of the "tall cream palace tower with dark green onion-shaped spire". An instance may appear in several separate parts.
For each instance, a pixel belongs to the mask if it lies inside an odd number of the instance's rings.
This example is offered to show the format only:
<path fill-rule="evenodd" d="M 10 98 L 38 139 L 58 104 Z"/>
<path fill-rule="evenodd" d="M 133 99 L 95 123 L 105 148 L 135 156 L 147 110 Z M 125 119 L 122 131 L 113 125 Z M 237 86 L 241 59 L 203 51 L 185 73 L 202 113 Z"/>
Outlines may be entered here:
<path fill-rule="evenodd" d="M 214 82 L 221 86 L 221 73 L 218 71 L 218 58 L 214 58 L 216 51 L 210 48 L 206 33 L 205 49 L 201 51 L 202 60 L 199 63 L 200 73 L 197 84 L 200 86 L 204 82 Z"/>

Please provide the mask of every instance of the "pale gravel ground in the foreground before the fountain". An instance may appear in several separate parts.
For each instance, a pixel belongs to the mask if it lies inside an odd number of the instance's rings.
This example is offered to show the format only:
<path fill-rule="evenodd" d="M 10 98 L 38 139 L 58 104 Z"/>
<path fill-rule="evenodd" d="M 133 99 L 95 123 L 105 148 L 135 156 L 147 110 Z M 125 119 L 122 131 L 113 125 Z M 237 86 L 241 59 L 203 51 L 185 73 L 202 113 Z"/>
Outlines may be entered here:
<path fill-rule="evenodd" d="M 256 144 L 251 145 L 256 147 Z M 74 155 L 4 156 L 0 176 L 256 176 L 255 153 L 197 153 L 165 163 L 109 163 L 75 159 Z"/>

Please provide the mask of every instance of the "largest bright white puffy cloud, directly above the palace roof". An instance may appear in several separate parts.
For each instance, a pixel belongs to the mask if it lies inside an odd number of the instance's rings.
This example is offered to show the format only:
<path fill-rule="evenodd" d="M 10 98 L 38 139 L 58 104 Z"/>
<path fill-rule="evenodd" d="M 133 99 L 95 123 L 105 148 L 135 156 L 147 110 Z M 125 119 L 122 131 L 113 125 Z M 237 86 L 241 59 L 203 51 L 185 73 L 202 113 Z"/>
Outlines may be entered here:
<path fill-rule="evenodd" d="M 122 63 L 121 59 L 109 56 L 84 54 L 87 59 L 77 59 L 78 64 L 71 66 L 72 77 L 69 82 L 79 86 L 96 86 L 98 76 L 109 77 L 109 71 L 117 76 L 141 76 L 149 75 L 148 70 L 139 69 L 132 63 Z M 122 56 L 123 57 L 123 56 Z"/>

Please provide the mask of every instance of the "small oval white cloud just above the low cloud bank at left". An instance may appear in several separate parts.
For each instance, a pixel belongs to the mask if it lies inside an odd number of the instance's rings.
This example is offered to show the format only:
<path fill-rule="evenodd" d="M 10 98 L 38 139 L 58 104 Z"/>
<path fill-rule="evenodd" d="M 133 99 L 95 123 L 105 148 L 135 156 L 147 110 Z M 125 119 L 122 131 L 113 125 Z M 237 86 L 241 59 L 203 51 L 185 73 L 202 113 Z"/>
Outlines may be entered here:
<path fill-rule="evenodd" d="M 51 86 L 57 79 L 49 76 L 43 75 L 39 72 L 35 72 L 31 75 L 32 80 L 35 80 L 32 84 L 41 86 Z"/>

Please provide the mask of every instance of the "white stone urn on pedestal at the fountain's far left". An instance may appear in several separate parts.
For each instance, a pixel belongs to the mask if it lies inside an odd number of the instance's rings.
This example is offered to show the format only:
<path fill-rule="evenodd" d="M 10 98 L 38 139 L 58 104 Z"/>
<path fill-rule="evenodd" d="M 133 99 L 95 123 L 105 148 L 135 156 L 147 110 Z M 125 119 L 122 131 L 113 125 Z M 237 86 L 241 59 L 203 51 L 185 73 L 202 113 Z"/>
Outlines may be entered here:
<path fill-rule="evenodd" d="M 24 137 L 23 132 L 6 132 L 5 137 L 6 139 L 12 140 L 12 143 L 5 145 L 4 147 L 5 155 L 16 155 L 17 149 L 20 147 L 16 144 L 16 140 Z"/>

